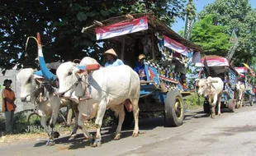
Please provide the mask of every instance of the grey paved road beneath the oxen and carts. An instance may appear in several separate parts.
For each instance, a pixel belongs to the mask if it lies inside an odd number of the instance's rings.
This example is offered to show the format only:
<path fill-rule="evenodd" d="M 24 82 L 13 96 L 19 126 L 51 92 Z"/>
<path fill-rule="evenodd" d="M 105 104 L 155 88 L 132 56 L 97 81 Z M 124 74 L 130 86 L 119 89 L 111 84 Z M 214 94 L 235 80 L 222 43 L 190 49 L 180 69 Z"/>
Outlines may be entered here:
<path fill-rule="evenodd" d="M 211 119 L 204 113 L 188 113 L 183 126 L 164 127 L 163 118 L 140 122 L 139 137 L 132 130 L 122 131 L 121 140 L 102 131 L 101 148 L 91 148 L 83 135 L 74 142 L 68 137 L 45 146 L 32 141 L 0 148 L 0 155 L 256 155 L 256 106 L 224 112 Z M 255 154 L 254 154 L 255 153 Z"/>

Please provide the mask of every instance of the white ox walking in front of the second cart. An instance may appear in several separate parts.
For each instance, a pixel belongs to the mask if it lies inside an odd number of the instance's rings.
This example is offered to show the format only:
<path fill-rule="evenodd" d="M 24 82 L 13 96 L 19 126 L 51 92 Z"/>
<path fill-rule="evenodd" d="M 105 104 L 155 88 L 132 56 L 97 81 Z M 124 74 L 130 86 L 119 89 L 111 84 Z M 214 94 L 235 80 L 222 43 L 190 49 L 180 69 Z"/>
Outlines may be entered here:
<path fill-rule="evenodd" d="M 207 79 L 201 79 L 198 81 L 198 94 L 203 97 L 207 97 L 209 104 L 211 105 L 211 118 L 216 115 L 215 107 L 218 101 L 218 115 L 220 116 L 220 100 L 223 93 L 224 83 L 220 77 L 211 77 Z"/>

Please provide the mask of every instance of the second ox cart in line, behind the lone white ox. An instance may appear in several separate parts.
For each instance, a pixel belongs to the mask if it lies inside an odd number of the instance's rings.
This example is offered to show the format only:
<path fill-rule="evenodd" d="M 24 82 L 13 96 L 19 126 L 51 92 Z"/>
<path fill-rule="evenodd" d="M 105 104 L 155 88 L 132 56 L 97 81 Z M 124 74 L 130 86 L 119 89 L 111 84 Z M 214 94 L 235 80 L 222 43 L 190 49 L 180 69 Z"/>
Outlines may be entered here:
<path fill-rule="evenodd" d="M 228 108 L 230 112 L 235 112 L 236 102 L 238 99 L 238 91 L 235 88 L 239 79 L 239 73 L 235 68 L 230 67 L 229 61 L 225 57 L 216 55 L 206 55 L 201 58 L 201 63 L 197 63 L 196 67 L 203 67 L 201 74 L 207 77 L 220 77 L 224 82 L 223 94 L 220 102 L 220 108 Z M 201 75 L 199 75 L 201 76 Z M 217 108 L 216 104 L 216 108 Z M 210 106 L 207 99 L 203 104 L 205 113 L 210 113 Z"/>

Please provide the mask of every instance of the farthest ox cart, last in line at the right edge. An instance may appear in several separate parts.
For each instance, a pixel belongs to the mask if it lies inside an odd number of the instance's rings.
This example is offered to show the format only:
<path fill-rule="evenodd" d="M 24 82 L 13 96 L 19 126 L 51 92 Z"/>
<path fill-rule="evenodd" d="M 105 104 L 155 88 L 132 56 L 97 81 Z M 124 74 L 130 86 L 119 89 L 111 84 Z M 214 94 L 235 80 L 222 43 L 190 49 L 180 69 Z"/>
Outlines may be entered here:
<path fill-rule="evenodd" d="M 235 70 L 239 72 L 239 76 L 241 77 L 242 81 L 244 81 L 244 106 L 246 102 L 249 102 L 250 106 L 254 105 L 254 92 L 253 92 L 253 85 L 249 83 L 249 72 L 246 67 L 235 67 Z"/>

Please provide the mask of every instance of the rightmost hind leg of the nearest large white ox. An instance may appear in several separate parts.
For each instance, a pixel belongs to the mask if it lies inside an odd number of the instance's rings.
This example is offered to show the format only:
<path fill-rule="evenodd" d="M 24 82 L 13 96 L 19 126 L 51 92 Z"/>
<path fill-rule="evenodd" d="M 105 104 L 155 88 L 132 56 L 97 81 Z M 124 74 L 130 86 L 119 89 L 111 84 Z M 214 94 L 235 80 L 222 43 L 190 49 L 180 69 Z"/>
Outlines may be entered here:
<path fill-rule="evenodd" d="M 139 135 L 139 112 L 140 112 L 140 108 L 138 106 L 139 99 L 133 99 L 131 103 L 132 103 L 132 112 L 135 118 L 135 129 L 132 133 L 132 136 L 136 137 Z"/>

